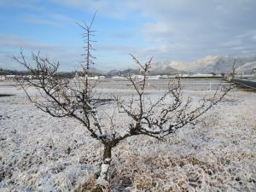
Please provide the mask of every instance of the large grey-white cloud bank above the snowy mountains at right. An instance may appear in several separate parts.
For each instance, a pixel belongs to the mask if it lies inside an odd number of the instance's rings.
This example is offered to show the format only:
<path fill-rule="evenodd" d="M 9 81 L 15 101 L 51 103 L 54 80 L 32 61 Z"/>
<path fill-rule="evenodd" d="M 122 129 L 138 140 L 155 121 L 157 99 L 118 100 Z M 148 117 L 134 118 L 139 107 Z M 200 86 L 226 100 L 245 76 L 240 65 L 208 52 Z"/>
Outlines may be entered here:
<path fill-rule="evenodd" d="M 142 0 L 134 7 L 154 22 L 143 28 L 147 39 L 156 39 L 163 53 L 189 61 L 204 55 L 253 53 L 252 36 L 237 37 L 256 29 L 253 0 Z M 152 26 L 160 24 L 159 30 Z M 165 27 L 163 27 L 165 26 Z M 172 29 L 172 30 L 167 30 Z M 231 49 L 232 48 L 232 49 Z M 169 58 L 170 58 L 169 55 Z M 168 55 L 166 54 L 166 59 Z M 170 58 L 172 59 L 172 58 Z M 176 57 L 174 58 L 176 59 Z"/>

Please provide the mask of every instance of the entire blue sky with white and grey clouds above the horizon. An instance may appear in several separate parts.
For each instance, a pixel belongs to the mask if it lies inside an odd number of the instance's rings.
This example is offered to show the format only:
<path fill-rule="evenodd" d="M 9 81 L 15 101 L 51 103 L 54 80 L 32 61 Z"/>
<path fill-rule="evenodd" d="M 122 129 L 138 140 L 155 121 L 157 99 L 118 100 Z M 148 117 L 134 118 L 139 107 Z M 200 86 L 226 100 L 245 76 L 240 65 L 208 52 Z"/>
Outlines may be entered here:
<path fill-rule="evenodd" d="M 96 68 L 146 61 L 195 61 L 206 55 L 256 54 L 255 0 L 0 0 L 0 67 L 40 50 L 61 70 L 79 68 L 83 32 L 96 11 Z"/>

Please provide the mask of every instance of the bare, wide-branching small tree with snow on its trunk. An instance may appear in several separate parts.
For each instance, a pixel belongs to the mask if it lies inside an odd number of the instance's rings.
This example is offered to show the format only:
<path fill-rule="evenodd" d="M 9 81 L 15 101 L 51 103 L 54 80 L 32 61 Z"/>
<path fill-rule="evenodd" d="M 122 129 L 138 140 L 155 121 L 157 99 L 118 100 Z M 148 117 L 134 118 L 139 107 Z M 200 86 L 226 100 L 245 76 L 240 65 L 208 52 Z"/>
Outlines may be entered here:
<path fill-rule="evenodd" d="M 220 86 L 211 98 L 204 97 L 195 105 L 189 97 L 183 97 L 182 85 L 177 79 L 168 84 L 162 96 L 152 98 L 148 95 L 148 73 L 152 67 L 152 58 L 142 64 L 131 55 L 140 73 L 139 76 L 125 75 L 133 93 L 129 97 L 113 96 L 112 102 L 106 102 L 106 98 L 96 91 L 96 82 L 88 78 L 90 66 L 95 61 L 91 54 L 93 20 L 90 25 L 79 25 L 84 29 L 85 44 L 82 79 L 61 78 L 57 73 L 60 63 L 51 62 L 39 54 L 32 54 L 33 65 L 26 61 L 22 50 L 20 57 L 15 57 L 15 60 L 26 67 L 32 76 L 32 79 L 18 79 L 18 84 L 35 106 L 53 117 L 78 120 L 90 137 L 102 143 L 102 166 L 97 183 L 98 189 L 103 189 L 108 185 L 113 148 L 121 141 L 138 135 L 164 139 L 185 125 L 195 124 L 196 119 L 228 94 L 232 85 Z M 40 96 L 32 96 L 29 88 L 38 90 Z M 120 116 L 125 117 L 122 124 Z"/>

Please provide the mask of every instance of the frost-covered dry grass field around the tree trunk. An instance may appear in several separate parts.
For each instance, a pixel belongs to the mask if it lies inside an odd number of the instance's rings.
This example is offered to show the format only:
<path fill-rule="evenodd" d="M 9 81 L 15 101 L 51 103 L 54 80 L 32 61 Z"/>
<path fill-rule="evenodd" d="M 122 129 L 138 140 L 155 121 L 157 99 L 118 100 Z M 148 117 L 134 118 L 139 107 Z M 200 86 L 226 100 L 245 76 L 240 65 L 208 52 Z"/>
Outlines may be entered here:
<path fill-rule="evenodd" d="M 0 97 L 0 191 L 90 191 L 102 146 L 72 119 L 52 118 L 21 90 L 0 85 L 1 93 L 15 94 Z M 125 140 L 114 148 L 107 191 L 255 191 L 255 96 L 233 90 L 200 124 L 166 142 Z"/>

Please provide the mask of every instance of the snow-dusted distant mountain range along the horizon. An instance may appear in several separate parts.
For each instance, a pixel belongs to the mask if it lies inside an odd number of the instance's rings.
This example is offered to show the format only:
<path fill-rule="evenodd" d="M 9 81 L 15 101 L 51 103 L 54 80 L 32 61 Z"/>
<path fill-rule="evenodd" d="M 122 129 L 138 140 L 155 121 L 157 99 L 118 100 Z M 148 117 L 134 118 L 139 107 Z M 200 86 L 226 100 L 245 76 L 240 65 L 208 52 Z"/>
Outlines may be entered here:
<path fill-rule="evenodd" d="M 150 70 L 150 75 L 172 75 L 177 73 L 230 73 L 236 61 L 235 67 L 238 73 L 250 73 L 256 68 L 256 55 L 209 55 L 193 62 L 164 61 L 156 62 Z M 70 74 L 69 74 L 70 73 Z M 90 75 L 118 76 L 119 74 L 138 74 L 138 69 L 110 70 L 104 73 L 96 68 L 90 68 Z M 0 75 L 26 74 L 13 70 L 0 68 Z M 75 72 L 61 73 L 63 76 L 72 77 Z"/>

